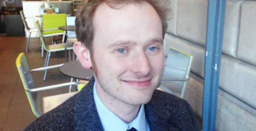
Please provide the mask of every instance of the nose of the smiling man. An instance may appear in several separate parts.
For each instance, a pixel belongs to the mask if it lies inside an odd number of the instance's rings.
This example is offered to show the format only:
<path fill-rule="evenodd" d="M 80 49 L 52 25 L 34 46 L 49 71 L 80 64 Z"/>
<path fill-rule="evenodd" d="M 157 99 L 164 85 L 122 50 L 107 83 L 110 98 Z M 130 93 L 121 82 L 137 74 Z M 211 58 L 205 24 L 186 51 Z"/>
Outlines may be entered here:
<path fill-rule="evenodd" d="M 151 70 L 151 65 L 144 52 L 134 55 L 131 65 L 131 71 L 137 75 L 148 75 Z"/>

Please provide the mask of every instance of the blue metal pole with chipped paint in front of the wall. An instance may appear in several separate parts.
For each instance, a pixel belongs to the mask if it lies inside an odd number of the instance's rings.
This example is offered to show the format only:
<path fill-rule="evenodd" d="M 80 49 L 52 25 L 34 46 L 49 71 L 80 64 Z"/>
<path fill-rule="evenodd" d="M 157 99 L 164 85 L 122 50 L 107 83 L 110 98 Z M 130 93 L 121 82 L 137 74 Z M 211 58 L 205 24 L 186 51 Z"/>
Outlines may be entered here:
<path fill-rule="evenodd" d="M 208 0 L 203 84 L 203 131 L 215 131 L 226 0 Z"/>

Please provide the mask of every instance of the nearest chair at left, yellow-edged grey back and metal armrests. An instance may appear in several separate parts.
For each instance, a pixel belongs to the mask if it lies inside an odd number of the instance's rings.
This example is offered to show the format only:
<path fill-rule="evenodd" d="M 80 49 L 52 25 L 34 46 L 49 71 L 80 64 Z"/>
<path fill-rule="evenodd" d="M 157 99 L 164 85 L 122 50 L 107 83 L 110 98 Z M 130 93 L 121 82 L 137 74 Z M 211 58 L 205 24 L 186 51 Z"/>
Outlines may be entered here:
<path fill-rule="evenodd" d="M 68 87 L 69 85 L 78 85 L 78 83 L 68 82 L 68 83 L 55 84 L 55 85 L 49 85 L 44 87 L 35 87 L 31 73 L 34 71 L 41 71 L 45 69 L 60 67 L 62 65 L 63 64 L 59 64 L 59 65 L 41 67 L 41 68 L 30 70 L 24 53 L 20 53 L 19 56 L 17 57 L 16 66 L 19 72 L 19 76 L 22 81 L 23 87 L 25 89 L 26 95 L 28 97 L 32 112 L 36 117 L 39 117 L 44 113 L 41 99 L 39 96 L 39 91 L 63 88 L 63 87 Z"/>

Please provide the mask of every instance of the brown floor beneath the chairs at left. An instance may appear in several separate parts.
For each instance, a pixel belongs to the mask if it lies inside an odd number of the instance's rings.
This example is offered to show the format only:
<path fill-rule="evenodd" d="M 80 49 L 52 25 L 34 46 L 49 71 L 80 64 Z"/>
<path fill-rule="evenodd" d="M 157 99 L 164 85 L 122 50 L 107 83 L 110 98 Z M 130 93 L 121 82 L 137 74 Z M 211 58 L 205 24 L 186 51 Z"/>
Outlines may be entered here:
<path fill-rule="evenodd" d="M 6 37 L 0 34 L 0 131 L 21 131 L 36 119 L 15 65 L 18 54 L 25 51 L 26 44 L 25 37 Z M 26 58 L 31 69 L 44 65 L 45 57 L 41 57 L 38 38 L 31 39 Z M 52 53 L 49 65 L 60 63 L 64 63 L 64 52 Z M 69 77 L 61 74 L 59 68 L 48 70 L 45 82 L 42 71 L 34 72 L 32 76 L 36 87 L 70 81 Z M 41 93 L 50 96 L 67 90 L 56 89 Z"/>

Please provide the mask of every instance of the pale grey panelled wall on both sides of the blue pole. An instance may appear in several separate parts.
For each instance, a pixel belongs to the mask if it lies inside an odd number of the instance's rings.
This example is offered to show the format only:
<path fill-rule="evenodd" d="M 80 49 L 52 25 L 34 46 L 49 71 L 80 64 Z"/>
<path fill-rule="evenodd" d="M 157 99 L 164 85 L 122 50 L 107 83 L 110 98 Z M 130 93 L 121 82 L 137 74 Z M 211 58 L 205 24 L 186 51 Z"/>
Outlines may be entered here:
<path fill-rule="evenodd" d="M 184 99 L 201 122 L 207 4 L 207 0 L 170 0 L 164 40 L 165 55 L 175 47 L 194 56 Z M 216 130 L 255 129 L 256 1 L 227 0 Z"/>

